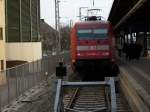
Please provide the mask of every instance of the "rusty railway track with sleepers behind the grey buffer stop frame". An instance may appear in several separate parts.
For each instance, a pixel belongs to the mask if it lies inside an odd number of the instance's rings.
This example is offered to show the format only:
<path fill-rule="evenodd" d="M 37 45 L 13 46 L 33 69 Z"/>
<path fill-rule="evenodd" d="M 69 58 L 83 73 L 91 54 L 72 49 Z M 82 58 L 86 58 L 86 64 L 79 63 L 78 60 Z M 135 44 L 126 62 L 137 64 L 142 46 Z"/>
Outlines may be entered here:
<path fill-rule="evenodd" d="M 73 88 L 64 95 L 65 112 L 111 112 L 106 86 Z M 117 112 L 132 112 L 121 93 L 116 94 Z"/>

